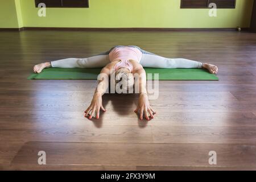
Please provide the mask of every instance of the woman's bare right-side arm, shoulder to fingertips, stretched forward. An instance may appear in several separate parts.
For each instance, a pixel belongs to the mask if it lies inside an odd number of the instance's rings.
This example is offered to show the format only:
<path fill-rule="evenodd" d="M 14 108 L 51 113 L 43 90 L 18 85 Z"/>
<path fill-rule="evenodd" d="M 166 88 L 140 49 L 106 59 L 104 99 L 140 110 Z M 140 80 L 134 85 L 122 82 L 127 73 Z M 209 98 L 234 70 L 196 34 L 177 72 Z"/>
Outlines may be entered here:
<path fill-rule="evenodd" d="M 137 79 L 135 79 L 135 86 L 139 86 L 139 102 L 137 109 L 135 109 L 135 113 L 139 111 L 139 118 L 143 119 L 143 113 L 144 117 L 149 120 L 148 114 L 150 115 L 151 118 L 154 118 L 154 114 L 156 112 L 152 107 L 150 106 L 150 103 L 148 101 L 148 96 L 147 96 L 147 89 L 146 89 L 146 72 L 142 67 L 137 67 L 134 69 L 134 74 L 138 74 L 139 76 Z"/>

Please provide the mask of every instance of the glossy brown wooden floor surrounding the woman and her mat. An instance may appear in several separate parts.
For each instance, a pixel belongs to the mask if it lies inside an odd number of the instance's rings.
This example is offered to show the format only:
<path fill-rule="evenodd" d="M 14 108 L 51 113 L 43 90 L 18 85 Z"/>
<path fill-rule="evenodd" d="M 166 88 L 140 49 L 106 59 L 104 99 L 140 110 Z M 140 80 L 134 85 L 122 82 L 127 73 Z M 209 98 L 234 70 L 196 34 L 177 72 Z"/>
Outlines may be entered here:
<path fill-rule="evenodd" d="M 256 169 L 256 34 L 23 31 L 0 40 L 0 169 Z M 147 122 L 133 94 L 106 94 L 106 113 L 84 118 L 95 80 L 26 80 L 34 64 L 115 45 L 217 64 L 220 81 L 160 81 Z"/>

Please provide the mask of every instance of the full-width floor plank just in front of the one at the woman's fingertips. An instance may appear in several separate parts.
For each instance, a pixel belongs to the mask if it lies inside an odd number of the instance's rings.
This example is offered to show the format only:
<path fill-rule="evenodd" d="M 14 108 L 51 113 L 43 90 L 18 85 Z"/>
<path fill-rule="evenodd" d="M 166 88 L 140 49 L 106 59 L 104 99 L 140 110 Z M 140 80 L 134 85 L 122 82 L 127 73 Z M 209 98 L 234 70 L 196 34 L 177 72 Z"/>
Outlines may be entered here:
<path fill-rule="evenodd" d="M 1 130 L 0 142 L 254 143 L 255 126 L 56 126 Z M 43 125 L 43 124 L 42 124 Z M 8 139 L 6 135 L 10 135 Z"/>

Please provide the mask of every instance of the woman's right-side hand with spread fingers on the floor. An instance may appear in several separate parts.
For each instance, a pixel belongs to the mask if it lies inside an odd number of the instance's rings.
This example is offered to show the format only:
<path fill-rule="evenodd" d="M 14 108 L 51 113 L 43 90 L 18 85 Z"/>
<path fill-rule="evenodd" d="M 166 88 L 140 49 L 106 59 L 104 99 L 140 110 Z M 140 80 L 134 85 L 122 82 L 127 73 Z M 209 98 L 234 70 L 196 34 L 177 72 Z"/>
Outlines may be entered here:
<path fill-rule="evenodd" d="M 150 115 L 151 118 L 154 118 L 154 114 L 156 114 L 156 112 L 150 106 L 150 103 L 148 101 L 148 96 L 146 93 L 139 94 L 139 103 L 138 103 L 137 109 L 135 109 L 134 112 L 137 113 L 137 111 L 139 111 L 140 119 L 143 119 L 143 113 L 147 120 L 150 120 L 150 118 L 148 117 L 148 114 Z"/>

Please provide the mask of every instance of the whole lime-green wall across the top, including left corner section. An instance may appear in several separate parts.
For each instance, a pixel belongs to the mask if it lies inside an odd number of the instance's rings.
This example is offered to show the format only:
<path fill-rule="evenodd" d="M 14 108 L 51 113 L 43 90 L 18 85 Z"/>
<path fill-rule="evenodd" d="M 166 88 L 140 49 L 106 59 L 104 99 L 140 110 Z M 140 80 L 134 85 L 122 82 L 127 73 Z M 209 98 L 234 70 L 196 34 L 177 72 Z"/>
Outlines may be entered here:
<path fill-rule="evenodd" d="M 0 5 L 1 27 L 233 28 L 249 27 L 253 0 L 237 0 L 236 9 L 219 9 L 213 18 L 208 9 L 180 9 L 180 0 L 89 0 L 89 9 L 48 8 L 46 17 L 38 16 L 34 0 Z"/>

